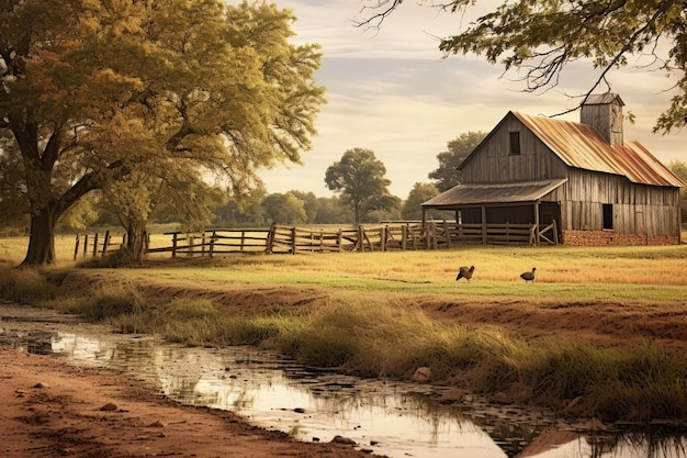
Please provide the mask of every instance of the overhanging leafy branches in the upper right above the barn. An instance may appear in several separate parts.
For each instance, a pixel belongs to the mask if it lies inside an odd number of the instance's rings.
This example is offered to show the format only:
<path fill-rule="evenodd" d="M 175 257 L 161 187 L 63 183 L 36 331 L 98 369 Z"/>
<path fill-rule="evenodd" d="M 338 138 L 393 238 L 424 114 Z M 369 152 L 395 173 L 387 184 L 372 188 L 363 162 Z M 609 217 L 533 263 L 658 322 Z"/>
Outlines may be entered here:
<path fill-rule="evenodd" d="M 364 0 L 362 26 L 380 26 L 403 0 Z M 463 13 L 475 0 L 419 3 Z M 403 7 L 406 7 L 405 4 Z M 641 68 L 676 77 L 675 96 L 658 118 L 655 131 L 668 133 L 687 122 L 687 7 L 675 0 L 504 0 L 455 35 L 440 41 L 446 54 L 475 53 L 505 70 L 518 70 L 526 90 L 559 82 L 564 67 L 588 59 L 597 70 L 594 87 L 611 70 L 643 59 Z M 582 101 L 579 102 L 582 104 Z"/>

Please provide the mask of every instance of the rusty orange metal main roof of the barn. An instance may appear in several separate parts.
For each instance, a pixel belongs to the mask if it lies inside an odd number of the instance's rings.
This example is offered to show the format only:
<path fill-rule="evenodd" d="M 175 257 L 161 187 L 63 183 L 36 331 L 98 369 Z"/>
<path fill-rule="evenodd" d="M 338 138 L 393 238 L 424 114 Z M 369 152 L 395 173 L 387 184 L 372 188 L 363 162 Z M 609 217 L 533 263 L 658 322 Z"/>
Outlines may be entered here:
<path fill-rule="evenodd" d="M 622 175 L 642 185 L 687 186 L 639 142 L 611 146 L 586 124 L 510 113 L 570 167 Z"/>

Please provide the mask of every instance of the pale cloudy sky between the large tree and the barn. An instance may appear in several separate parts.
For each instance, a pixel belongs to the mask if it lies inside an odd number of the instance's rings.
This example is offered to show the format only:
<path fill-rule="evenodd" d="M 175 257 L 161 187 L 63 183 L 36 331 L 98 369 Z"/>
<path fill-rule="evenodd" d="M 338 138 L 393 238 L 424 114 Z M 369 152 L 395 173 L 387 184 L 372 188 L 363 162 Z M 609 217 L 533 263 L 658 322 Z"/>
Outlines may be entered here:
<path fill-rule="evenodd" d="M 294 12 L 294 44 L 318 43 L 324 58 L 315 75 L 326 88 L 327 103 L 316 121 L 312 149 L 303 165 L 277 166 L 260 174 L 269 193 L 290 190 L 330 197 L 325 172 L 352 148 L 372 149 L 386 167 L 392 194 L 406 199 L 416 182 L 430 182 L 437 155 L 448 142 L 469 131 L 488 133 L 508 113 L 553 115 L 577 105 L 597 74 L 589 64 L 564 69 L 559 86 L 542 93 L 523 92 L 517 74 L 480 56 L 452 55 L 438 48 L 438 37 L 457 33 L 470 16 L 439 13 L 407 0 L 379 30 L 354 26 L 364 18 L 361 0 L 272 0 Z M 368 4 L 374 0 L 368 0 Z M 480 8 L 494 4 L 478 2 Z M 483 12 L 483 11 L 482 11 Z M 470 14 L 478 14 L 472 10 Z M 641 59 L 631 60 L 633 66 Z M 668 108 L 671 80 L 661 71 L 616 70 L 611 90 L 626 103 L 624 138 L 642 143 L 664 164 L 687 161 L 687 132 L 653 134 Z M 606 88 L 598 92 L 606 91 Z M 579 121 L 579 112 L 561 116 Z"/>

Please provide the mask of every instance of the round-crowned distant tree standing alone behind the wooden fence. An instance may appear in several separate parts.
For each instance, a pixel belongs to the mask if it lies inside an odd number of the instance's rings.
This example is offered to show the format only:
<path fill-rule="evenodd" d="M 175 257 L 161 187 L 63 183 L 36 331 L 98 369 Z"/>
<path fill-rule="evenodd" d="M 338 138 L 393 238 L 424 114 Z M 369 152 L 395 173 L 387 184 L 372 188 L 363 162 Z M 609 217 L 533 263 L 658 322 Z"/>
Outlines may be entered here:
<path fill-rule="evenodd" d="M 353 148 L 327 168 L 325 183 L 339 193 L 341 202 L 353 212 L 353 223 L 359 225 L 370 212 L 390 210 L 396 203 L 388 193 L 391 181 L 384 178 L 385 174 L 386 167 L 374 152 Z"/>

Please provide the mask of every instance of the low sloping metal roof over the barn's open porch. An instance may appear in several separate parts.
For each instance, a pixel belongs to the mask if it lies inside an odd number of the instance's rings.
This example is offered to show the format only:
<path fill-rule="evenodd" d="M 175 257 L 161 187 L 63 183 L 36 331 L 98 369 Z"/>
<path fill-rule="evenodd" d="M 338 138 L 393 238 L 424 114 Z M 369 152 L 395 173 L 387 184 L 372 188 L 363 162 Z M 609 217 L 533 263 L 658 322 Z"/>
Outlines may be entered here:
<path fill-rule="evenodd" d="M 484 203 L 534 202 L 567 181 L 567 178 L 507 183 L 464 183 L 423 203 L 425 208 L 444 208 Z"/>

